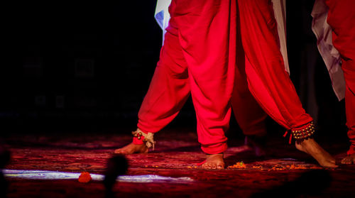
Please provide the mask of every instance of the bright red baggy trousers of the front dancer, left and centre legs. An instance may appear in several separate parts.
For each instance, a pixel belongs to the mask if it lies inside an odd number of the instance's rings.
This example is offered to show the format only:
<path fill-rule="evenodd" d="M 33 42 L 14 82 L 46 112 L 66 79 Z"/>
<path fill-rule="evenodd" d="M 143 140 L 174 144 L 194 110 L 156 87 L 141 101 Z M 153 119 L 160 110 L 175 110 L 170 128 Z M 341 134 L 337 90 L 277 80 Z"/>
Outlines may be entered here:
<path fill-rule="evenodd" d="M 230 99 L 236 64 L 236 2 L 178 0 L 160 60 L 138 113 L 138 128 L 160 131 L 180 111 L 189 94 L 204 153 L 226 150 Z"/>

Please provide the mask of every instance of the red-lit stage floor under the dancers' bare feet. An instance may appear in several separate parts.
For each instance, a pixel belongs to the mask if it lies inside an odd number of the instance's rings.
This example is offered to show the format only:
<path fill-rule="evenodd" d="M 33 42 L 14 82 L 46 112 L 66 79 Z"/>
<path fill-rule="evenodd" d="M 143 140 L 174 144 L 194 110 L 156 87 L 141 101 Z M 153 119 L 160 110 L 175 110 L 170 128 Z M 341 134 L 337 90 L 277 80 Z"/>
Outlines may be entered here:
<path fill-rule="evenodd" d="M 282 137 L 268 139 L 265 158 L 254 157 L 253 151 L 244 146 L 243 138 L 231 138 L 225 153 L 226 165 L 243 161 L 246 167 L 225 170 L 203 170 L 197 166 L 204 154 L 193 129 L 165 129 L 155 140 L 153 152 L 126 156 L 129 177 L 120 177 L 114 185 L 116 197 L 355 197 L 355 165 L 324 170 Z M 8 197 L 89 198 L 104 197 L 101 179 L 93 177 L 91 182 L 81 183 L 75 174 L 65 175 L 89 172 L 93 176 L 99 174 L 99 178 L 113 150 L 130 143 L 131 136 L 13 134 L 4 141 L 11 151 L 11 162 L 3 170 L 9 183 Z M 346 143 L 320 144 L 337 160 L 345 155 Z M 32 170 L 33 174 L 22 170 Z M 48 179 L 45 172 L 34 170 L 58 174 Z"/>

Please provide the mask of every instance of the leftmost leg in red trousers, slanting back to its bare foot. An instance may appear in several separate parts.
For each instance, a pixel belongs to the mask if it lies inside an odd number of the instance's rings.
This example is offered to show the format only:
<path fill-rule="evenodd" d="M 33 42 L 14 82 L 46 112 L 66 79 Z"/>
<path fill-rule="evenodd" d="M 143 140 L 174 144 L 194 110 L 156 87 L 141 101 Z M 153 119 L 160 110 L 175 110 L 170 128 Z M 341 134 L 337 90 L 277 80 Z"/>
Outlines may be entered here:
<path fill-rule="evenodd" d="M 178 40 L 178 28 L 174 21 L 165 33 L 165 41 L 160 51 L 160 60 L 155 68 L 150 87 L 138 112 L 137 131 L 143 135 L 156 133 L 165 127 L 185 104 L 190 95 L 187 64 Z M 115 153 L 148 153 L 144 137 L 133 137 L 133 142 Z"/>

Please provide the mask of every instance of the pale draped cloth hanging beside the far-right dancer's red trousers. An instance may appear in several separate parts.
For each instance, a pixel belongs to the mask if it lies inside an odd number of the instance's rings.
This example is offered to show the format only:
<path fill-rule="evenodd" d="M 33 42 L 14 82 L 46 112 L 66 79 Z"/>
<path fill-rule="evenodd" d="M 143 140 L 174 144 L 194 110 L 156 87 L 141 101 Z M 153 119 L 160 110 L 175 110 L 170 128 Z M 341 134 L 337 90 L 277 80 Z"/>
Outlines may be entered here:
<path fill-rule="evenodd" d="M 311 15 L 312 31 L 317 37 L 317 46 L 332 80 L 332 86 L 339 100 L 345 97 L 345 79 L 339 52 L 332 42 L 332 28 L 327 23 L 328 6 L 325 0 L 316 0 Z"/>

